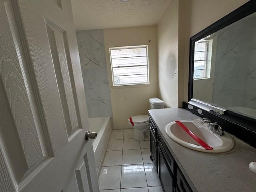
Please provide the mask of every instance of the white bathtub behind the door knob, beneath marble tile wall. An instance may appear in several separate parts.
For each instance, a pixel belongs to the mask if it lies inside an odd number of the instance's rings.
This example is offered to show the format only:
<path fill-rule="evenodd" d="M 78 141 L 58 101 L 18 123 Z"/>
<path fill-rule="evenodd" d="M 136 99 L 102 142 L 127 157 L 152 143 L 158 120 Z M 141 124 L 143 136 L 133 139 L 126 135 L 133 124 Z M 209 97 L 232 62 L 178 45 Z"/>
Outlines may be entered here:
<path fill-rule="evenodd" d="M 90 132 L 96 132 L 96 139 L 92 140 L 94 151 L 95 165 L 99 175 L 100 168 L 106 153 L 112 126 L 110 117 L 95 117 L 89 118 Z"/>

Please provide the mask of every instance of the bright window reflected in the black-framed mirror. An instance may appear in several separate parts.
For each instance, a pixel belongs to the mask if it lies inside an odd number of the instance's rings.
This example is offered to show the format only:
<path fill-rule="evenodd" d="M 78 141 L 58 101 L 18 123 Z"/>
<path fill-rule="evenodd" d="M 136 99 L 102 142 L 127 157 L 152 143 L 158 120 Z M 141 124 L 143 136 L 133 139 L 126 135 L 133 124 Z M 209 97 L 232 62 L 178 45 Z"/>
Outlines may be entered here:
<path fill-rule="evenodd" d="M 194 79 L 207 78 L 208 41 L 195 43 Z"/>

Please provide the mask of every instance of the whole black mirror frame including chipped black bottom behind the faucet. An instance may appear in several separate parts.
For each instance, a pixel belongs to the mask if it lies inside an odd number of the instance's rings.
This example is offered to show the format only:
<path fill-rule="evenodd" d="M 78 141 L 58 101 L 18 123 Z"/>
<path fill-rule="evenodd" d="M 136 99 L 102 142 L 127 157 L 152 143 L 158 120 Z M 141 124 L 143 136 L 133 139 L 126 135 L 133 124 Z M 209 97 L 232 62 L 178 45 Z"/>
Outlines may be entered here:
<path fill-rule="evenodd" d="M 214 33 L 218 30 L 256 12 L 256 0 L 250 0 L 246 4 L 240 6 L 230 14 L 224 16 L 214 24 L 208 26 L 198 34 L 190 38 L 190 54 L 189 54 L 189 81 L 188 81 L 188 102 L 193 98 L 193 76 L 194 76 L 194 44 L 196 41 Z M 210 118 L 214 122 L 218 122 L 225 131 L 244 140 L 248 144 L 256 148 L 256 119 L 248 116 L 226 110 L 223 115 L 216 114 L 212 111 L 206 111 L 198 106 L 191 106 L 187 102 L 183 102 L 183 108 L 200 116 L 201 118 Z M 198 112 L 200 109 L 200 113 Z"/>

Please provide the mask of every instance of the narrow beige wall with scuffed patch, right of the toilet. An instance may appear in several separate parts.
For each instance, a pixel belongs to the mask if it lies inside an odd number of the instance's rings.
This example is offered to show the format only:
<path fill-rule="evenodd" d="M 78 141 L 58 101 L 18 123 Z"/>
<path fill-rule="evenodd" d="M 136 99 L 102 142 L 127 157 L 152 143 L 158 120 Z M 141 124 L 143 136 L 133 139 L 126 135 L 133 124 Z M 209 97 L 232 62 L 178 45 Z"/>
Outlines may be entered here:
<path fill-rule="evenodd" d="M 171 0 L 157 25 L 159 97 L 178 106 L 178 0 Z"/>

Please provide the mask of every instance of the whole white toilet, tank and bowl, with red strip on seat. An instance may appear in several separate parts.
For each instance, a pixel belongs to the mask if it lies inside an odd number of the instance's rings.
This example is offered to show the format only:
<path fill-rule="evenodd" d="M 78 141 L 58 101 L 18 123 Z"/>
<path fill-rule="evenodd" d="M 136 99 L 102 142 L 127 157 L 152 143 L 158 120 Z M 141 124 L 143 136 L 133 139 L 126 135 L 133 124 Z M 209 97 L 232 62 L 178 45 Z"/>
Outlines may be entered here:
<path fill-rule="evenodd" d="M 149 99 L 150 109 L 164 108 L 164 101 L 154 97 Z M 134 128 L 134 140 L 149 140 L 149 117 L 148 115 L 136 115 L 128 118 L 128 124 Z"/>

